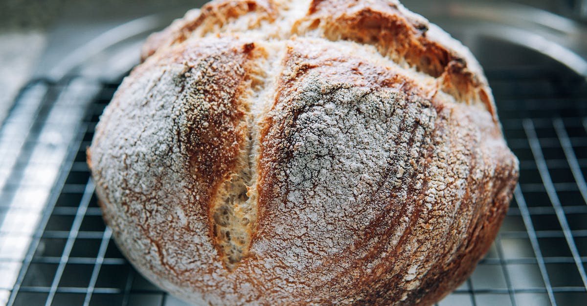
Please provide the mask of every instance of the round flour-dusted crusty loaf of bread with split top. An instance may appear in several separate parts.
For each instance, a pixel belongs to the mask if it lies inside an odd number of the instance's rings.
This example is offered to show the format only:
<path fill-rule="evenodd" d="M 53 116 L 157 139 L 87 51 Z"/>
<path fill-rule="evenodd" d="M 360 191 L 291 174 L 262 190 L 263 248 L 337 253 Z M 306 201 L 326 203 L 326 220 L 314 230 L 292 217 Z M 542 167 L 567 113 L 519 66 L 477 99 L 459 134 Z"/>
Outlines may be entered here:
<path fill-rule="evenodd" d="M 429 305 L 518 178 L 468 49 L 394 0 L 215 0 L 152 35 L 87 160 L 104 220 L 194 304 Z"/>

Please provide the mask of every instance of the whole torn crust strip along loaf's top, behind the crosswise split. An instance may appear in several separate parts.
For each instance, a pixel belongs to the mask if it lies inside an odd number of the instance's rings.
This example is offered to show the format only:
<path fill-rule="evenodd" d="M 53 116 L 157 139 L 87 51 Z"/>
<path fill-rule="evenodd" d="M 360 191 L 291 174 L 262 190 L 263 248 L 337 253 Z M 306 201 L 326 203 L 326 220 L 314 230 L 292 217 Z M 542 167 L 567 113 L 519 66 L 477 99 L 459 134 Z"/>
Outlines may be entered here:
<path fill-rule="evenodd" d="M 332 41 L 352 40 L 373 45 L 394 62 L 434 77 L 438 89 L 457 101 L 486 108 L 497 122 L 491 89 L 477 60 L 460 42 L 407 11 L 396 0 L 312 0 L 301 16 L 292 13 L 295 11 L 292 8 L 298 5 L 288 0 L 212 1 L 201 12 L 188 12 L 167 29 L 151 35 L 141 57 L 144 60 L 157 49 L 190 37 L 202 38 L 225 31 L 247 32 L 268 23 L 278 29 L 264 29 L 268 33 L 266 38 L 276 35 L 288 39 L 292 35 L 318 33 Z M 255 14 L 254 18 L 245 18 L 251 13 Z M 239 18 L 244 22 L 237 22 Z M 231 23 L 234 25 L 230 26 Z"/>

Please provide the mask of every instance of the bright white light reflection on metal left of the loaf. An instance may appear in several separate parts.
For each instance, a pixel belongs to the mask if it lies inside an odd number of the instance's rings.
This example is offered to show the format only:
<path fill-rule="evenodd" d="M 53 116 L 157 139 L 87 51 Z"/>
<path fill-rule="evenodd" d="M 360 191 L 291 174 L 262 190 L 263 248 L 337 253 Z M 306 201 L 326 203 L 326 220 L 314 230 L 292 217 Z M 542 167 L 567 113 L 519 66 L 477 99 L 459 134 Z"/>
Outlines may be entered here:
<path fill-rule="evenodd" d="M 80 134 L 82 118 L 100 87 L 76 79 L 56 86 L 39 80 L 23 90 L 0 130 L 0 304 L 8 301 L 6 287 L 23 277 L 32 260 L 29 246 L 38 242 L 35 230 L 46 222 L 50 199 Z M 63 183 L 63 182 L 61 182 Z M 56 200 L 56 199 L 55 199 Z M 2 292 L 4 289 L 4 293 Z M 14 302 L 14 300 L 11 300 Z M 8 304 L 12 304 L 8 302 Z"/>

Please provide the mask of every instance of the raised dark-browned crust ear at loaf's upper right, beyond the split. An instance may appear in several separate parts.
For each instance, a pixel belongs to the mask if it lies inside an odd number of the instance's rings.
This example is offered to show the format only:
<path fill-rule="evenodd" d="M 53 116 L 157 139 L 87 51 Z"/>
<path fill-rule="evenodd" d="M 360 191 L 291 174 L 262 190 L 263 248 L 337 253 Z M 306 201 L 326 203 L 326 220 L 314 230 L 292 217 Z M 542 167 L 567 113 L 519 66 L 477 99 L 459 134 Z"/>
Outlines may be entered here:
<path fill-rule="evenodd" d="M 407 11 L 397 1 L 312 0 L 308 16 L 299 23 L 309 28 L 319 25 L 325 38 L 333 41 L 375 45 L 394 62 L 406 63 L 437 78 L 441 90 L 458 101 L 482 103 L 497 118 L 487 81 L 474 57 L 452 39 L 435 39 L 436 26 L 432 25 L 434 32 L 429 32 L 431 25 L 426 19 Z M 305 30 L 308 29 L 304 26 L 297 29 L 299 33 Z"/>

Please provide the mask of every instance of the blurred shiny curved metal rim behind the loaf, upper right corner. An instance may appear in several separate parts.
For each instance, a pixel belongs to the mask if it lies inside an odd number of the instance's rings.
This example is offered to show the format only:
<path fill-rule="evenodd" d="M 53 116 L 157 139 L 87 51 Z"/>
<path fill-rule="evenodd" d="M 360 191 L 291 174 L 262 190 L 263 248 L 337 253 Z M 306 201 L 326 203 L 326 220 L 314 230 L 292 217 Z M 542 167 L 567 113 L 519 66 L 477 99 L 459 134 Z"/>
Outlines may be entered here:
<path fill-rule="evenodd" d="M 515 4 L 412 1 L 427 16 L 470 47 L 483 66 L 531 64 L 522 50 L 502 49 L 498 40 L 531 49 L 587 76 L 587 27 L 553 13 Z"/>

